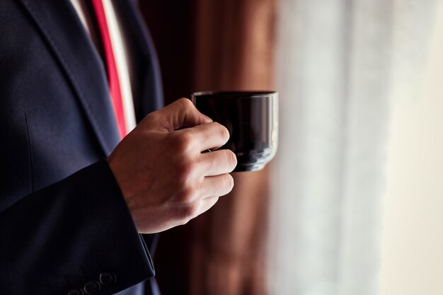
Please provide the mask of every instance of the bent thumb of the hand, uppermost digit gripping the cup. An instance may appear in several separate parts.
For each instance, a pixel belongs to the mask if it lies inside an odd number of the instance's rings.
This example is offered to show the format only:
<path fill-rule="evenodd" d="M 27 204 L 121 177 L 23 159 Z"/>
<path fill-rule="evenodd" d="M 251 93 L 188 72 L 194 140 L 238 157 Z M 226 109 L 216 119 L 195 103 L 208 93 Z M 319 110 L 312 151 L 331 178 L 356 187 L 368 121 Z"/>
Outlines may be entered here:
<path fill-rule="evenodd" d="M 188 98 L 180 98 L 171 105 L 153 113 L 151 124 L 167 129 L 168 132 L 181 127 L 193 127 L 212 122 L 212 119 L 203 115 Z"/>

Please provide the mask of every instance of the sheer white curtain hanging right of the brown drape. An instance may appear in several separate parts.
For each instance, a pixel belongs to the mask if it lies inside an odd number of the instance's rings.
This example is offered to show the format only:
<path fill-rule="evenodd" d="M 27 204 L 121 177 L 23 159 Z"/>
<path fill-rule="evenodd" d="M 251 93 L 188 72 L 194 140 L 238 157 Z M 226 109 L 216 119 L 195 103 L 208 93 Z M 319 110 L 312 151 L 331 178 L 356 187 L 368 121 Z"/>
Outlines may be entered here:
<path fill-rule="evenodd" d="M 438 3 L 278 1 L 269 294 L 378 294 L 390 115 L 419 83 Z"/>

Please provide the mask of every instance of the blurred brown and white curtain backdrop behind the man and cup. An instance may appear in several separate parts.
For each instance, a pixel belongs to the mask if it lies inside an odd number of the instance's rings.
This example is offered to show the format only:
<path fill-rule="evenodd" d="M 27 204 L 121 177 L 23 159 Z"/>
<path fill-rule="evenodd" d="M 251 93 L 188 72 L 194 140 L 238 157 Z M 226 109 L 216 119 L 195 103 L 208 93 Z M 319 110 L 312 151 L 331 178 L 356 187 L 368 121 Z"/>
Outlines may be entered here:
<path fill-rule="evenodd" d="M 162 233 L 164 295 L 443 294 L 443 1 L 144 0 L 166 103 L 280 92 L 280 142 Z"/>

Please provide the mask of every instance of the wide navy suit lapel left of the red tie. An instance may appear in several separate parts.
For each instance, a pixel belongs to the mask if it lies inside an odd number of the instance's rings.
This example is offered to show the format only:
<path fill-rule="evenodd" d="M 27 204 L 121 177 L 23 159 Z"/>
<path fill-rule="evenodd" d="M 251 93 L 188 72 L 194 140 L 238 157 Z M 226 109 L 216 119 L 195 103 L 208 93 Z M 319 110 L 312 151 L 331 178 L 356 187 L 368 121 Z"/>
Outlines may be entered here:
<path fill-rule="evenodd" d="M 91 39 L 69 0 L 21 0 L 73 87 L 105 155 L 120 141 L 108 82 Z"/>

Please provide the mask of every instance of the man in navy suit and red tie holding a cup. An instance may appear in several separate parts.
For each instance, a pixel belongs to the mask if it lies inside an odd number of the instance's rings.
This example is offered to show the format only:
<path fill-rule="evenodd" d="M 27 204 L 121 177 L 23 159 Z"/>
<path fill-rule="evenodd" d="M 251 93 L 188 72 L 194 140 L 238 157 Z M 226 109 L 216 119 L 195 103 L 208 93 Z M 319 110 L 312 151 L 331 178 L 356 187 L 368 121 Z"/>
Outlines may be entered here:
<path fill-rule="evenodd" d="M 0 294 L 149 294 L 139 283 L 154 276 L 152 236 L 141 233 L 185 224 L 234 185 L 234 154 L 202 153 L 227 141 L 226 128 L 186 99 L 153 112 L 151 41 L 134 3 L 113 1 L 139 122 L 125 134 L 112 60 L 122 45 L 106 35 L 105 7 L 85 2 L 89 12 L 69 0 L 0 2 Z"/>

